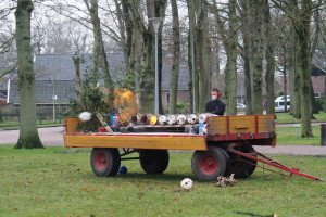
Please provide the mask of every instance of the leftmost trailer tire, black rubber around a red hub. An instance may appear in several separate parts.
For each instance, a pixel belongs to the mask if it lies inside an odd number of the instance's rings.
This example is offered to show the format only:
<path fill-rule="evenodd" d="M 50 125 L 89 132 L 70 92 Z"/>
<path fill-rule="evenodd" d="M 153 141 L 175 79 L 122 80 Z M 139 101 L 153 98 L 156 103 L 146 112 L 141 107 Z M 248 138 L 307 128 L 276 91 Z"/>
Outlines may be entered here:
<path fill-rule="evenodd" d="M 99 156 L 105 157 L 105 165 L 99 166 L 97 165 L 100 162 Z M 90 165 L 92 171 L 98 177 L 109 177 L 115 176 L 118 171 L 121 165 L 120 153 L 117 149 L 102 149 L 102 148 L 93 148 L 90 154 Z M 103 167 L 103 168 L 101 168 Z"/>

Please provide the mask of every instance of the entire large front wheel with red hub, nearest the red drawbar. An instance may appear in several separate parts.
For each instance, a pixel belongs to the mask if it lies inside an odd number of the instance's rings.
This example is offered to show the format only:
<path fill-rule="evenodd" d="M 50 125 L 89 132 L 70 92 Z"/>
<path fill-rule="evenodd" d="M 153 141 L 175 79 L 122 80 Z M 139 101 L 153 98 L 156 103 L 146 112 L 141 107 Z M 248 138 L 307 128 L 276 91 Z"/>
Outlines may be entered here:
<path fill-rule="evenodd" d="M 191 159 L 191 168 L 200 181 L 216 181 L 218 176 L 224 175 L 227 156 L 223 149 L 209 146 L 208 152 L 196 151 Z"/>

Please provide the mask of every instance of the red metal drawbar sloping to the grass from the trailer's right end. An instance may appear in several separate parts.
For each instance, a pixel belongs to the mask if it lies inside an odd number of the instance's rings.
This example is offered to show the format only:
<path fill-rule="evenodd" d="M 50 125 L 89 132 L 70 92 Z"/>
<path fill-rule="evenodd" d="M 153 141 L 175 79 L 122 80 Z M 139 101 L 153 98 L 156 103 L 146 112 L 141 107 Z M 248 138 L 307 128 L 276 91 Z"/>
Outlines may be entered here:
<path fill-rule="evenodd" d="M 301 176 L 301 177 L 305 177 L 305 178 L 309 178 L 309 179 L 325 181 L 325 180 L 319 179 L 317 177 L 300 173 L 298 168 L 289 168 L 289 167 L 287 167 L 287 166 L 285 166 L 285 165 L 283 165 L 283 164 L 280 164 L 278 162 L 276 162 L 276 161 L 274 161 L 274 159 L 272 159 L 272 158 L 269 158 L 269 157 L 267 157 L 267 156 L 265 156 L 265 155 L 263 155 L 263 154 L 261 154 L 261 153 L 259 153 L 256 151 L 254 151 L 252 153 L 243 153 L 243 152 L 240 152 L 238 150 L 235 150 L 233 145 L 228 146 L 228 151 L 231 152 L 231 153 L 238 154 L 240 156 L 244 156 L 247 158 L 251 158 L 251 159 L 261 162 L 263 164 L 267 164 L 269 166 L 273 166 L 273 167 L 279 168 L 281 170 L 288 171 L 288 173 L 290 173 L 290 177 L 292 177 L 292 175 L 294 174 L 294 175 L 298 175 L 298 176 Z M 256 156 L 260 156 L 262 158 L 259 158 Z M 274 171 L 272 169 L 267 169 L 267 170 Z M 280 174 L 280 173 L 277 173 L 277 171 L 274 171 L 274 173 Z M 281 174 L 281 175 L 284 175 L 284 174 Z"/>

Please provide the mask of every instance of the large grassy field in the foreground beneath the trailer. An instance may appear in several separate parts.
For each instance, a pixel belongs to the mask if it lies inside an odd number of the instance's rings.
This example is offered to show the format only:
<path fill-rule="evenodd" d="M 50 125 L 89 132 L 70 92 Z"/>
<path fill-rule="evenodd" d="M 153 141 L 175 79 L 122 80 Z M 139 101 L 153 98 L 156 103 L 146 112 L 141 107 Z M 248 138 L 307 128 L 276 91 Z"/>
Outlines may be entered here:
<path fill-rule="evenodd" d="M 191 153 L 172 153 L 163 175 L 149 176 L 138 161 L 122 162 L 126 175 L 96 177 L 89 149 L 14 150 L 0 146 L 1 216 L 324 216 L 325 182 L 262 173 L 217 188 L 196 180 Z M 326 179 L 326 158 L 273 156 Z M 193 180 L 190 191 L 180 181 Z"/>

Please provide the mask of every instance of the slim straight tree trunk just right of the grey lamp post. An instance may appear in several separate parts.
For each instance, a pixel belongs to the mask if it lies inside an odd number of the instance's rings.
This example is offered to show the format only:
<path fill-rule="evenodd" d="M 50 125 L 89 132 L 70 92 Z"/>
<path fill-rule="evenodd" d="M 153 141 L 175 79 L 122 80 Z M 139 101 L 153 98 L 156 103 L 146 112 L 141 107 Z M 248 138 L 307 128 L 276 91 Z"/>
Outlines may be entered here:
<path fill-rule="evenodd" d="M 179 53 L 180 53 L 180 36 L 179 36 L 179 16 L 176 0 L 171 0 L 172 17 L 173 17 L 173 59 L 172 72 L 170 80 L 170 114 L 176 114 L 177 89 L 179 76 Z"/>

